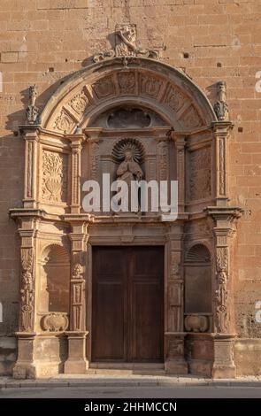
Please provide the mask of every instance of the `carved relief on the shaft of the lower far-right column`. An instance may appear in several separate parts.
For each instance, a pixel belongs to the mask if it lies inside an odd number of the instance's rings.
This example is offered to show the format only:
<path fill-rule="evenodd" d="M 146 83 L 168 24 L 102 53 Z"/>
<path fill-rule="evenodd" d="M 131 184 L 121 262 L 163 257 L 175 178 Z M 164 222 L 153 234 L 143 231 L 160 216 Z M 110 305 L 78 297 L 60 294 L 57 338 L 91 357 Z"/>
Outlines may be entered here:
<path fill-rule="evenodd" d="M 216 302 L 216 326 L 219 333 L 226 333 L 228 329 L 229 312 L 227 308 L 228 300 L 228 251 L 227 247 L 217 248 L 217 290 L 215 291 L 215 302 Z"/>

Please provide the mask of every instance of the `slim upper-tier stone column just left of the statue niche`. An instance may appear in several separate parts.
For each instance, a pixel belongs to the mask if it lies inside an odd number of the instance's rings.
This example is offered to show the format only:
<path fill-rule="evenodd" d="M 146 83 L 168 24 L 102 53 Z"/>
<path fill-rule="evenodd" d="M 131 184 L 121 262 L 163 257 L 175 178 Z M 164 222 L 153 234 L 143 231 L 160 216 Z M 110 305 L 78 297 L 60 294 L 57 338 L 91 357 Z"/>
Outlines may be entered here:
<path fill-rule="evenodd" d="M 85 135 L 67 135 L 71 141 L 72 148 L 72 168 L 71 168 L 71 212 L 81 212 L 81 143 L 85 140 Z"/>

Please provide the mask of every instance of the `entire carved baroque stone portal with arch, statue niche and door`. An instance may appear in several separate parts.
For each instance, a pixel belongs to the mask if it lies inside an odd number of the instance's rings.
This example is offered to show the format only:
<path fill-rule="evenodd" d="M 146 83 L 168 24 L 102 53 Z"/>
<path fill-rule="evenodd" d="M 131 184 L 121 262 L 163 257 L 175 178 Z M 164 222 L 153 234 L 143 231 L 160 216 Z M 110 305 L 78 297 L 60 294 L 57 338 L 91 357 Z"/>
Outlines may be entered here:
<path fill-rule="evenodd" d="M 241 210 L 228 203 L 232 124 L 224 84 L 215 112 L 184 73 L 144 58 L 152 51 L 138 46 L 134 25 L 119 25 L 115 35 L 115 48 L 68 77 L 37 122 L 35 88 L 30 89 L 31 110 L 20 130 L 25 195 L 23 207 L 11 210 L 21 239 L 14 375 L 58 374 L 60 368 L 84 374 L 96 357 L 120 356 L 126 351 L 125 335 L 117 333 L 123 307 L 125 333 L 141 335 L 128 343 L 136 361 L 154 359 L 165 363 L 166 372 L 186 374 L 189 359 L 192 372 L 233 377 L 230 252 Z M 178 181 L 178 217 L 150 206 L 144 214 L 111 212 L 110 204 L 85 212 L 84 184 L 102 185 L 104 173 L 127 183 Z M 110 184 L 103 193 L 111 196 Z M 150 322 L 150 342 L 142 313 Z M 165 318 L 156 322 L 158 316 Z M 106 331 L 99 334 L 93 319 Z M 43 338 L 49 364 L 39 356 Z"/>

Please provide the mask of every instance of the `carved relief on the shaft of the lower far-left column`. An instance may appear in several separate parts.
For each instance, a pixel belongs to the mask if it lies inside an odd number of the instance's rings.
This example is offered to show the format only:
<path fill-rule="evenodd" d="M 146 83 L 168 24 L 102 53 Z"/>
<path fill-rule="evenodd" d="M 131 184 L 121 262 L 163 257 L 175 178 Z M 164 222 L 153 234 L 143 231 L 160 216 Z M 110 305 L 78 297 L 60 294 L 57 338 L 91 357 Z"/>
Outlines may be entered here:
<path fill-rule="evenodd" d="M 21 249 L 21 330 L 34 330 L 35 275 L 33 248 Z"/>

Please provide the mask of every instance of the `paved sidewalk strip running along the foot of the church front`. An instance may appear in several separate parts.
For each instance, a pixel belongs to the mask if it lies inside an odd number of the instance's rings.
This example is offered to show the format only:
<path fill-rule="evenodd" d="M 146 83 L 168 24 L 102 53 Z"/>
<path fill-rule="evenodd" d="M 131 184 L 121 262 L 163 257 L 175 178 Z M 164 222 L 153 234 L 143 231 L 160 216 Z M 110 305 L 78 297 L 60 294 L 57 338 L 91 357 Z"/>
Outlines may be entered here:
<path fill-rule="evenodd" d="M 65 388 L 65 387 L 257 387 L 261 388 L 261 377 L 241 377 L 237 379 L 205 379 L 199 377 L 156 376 L 156 375 L 73 375 L 61 374 L 56 378 L 37 380 L 14 380 L 0 377 L 0 389 L 19 388 Z"/>

